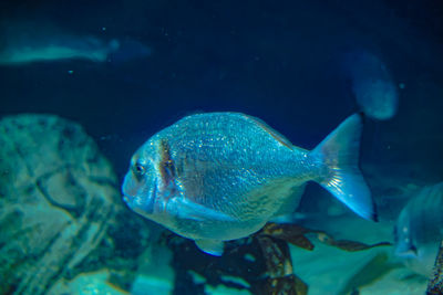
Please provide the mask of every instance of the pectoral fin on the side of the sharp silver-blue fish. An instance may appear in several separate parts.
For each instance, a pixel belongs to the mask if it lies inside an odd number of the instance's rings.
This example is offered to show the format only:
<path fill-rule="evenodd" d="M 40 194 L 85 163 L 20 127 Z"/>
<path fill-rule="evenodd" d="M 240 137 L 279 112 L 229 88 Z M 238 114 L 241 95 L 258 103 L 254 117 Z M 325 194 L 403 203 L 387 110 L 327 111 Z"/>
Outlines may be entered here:
<path fill-rule="evenodd" d="M 186 199 L 176 201 L 176 214 L 183 219 L 193 219 L 196 221 L 205 220 L 217 220 L 217 221 L 235 221 L 235 219 L 228 214 L 207 208 L 203 204 L 192 202 Z"/>

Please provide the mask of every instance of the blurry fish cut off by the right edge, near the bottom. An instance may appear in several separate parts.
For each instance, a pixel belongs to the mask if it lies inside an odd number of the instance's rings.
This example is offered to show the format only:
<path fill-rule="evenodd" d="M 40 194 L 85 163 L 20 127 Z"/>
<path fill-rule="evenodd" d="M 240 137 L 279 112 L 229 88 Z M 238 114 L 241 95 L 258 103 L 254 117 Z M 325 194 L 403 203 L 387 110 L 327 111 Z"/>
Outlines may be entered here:
<path fill-rule="evenodd" d="M 430 276 L 443 240 L 443 182 L 425 187 L 400 212 L 394 254 L 408 267 Z"/>

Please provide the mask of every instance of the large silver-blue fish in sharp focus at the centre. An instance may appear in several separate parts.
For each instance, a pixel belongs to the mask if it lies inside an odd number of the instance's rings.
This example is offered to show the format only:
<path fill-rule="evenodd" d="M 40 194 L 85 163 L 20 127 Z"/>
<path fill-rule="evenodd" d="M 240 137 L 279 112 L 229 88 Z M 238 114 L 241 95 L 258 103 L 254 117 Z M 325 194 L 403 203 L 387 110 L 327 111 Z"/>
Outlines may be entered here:
<path fill-rule="evenodd" d="M 187 116 L 134 154 L 122 187 L 124 201 L 213 255 L 222 255 L 224 241 L 292 214 L 310 180 L 374 220 L 358 168 L 361 129 L 361 117 L 352 115 L 309 151 L 251 116 Z"/>

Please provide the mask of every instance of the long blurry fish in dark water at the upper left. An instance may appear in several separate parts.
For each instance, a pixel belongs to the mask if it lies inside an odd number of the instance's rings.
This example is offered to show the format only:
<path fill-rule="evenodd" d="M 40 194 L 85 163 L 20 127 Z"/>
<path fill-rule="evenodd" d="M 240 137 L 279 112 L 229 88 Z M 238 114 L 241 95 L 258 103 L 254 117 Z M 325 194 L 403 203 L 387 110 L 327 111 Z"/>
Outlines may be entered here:
<path fill-rule="evenodd" d="M 151 55 L 151 49 L 137 41 L 104 40 L 93 35 L 63 32 L 54 25 L 1 25 L 0 65 L 24 65 L 34 62 L 86 60 L 126 62 Z"/>

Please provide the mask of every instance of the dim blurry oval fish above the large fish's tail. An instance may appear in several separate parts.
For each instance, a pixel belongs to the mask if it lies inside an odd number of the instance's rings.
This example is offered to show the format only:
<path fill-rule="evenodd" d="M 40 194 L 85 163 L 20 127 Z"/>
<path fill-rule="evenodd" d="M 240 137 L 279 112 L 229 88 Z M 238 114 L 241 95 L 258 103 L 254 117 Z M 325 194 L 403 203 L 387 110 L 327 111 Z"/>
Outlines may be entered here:
<path fill-rule="evenodd" d="M 399 92 L 385 64 L 368 51 L 344 54 L 343 64 L 352 95 L 361 110 L 377 120 L 392 118 L 399 107 Z"/>

